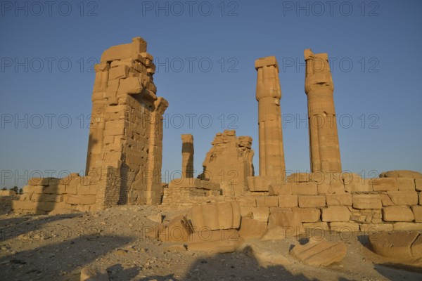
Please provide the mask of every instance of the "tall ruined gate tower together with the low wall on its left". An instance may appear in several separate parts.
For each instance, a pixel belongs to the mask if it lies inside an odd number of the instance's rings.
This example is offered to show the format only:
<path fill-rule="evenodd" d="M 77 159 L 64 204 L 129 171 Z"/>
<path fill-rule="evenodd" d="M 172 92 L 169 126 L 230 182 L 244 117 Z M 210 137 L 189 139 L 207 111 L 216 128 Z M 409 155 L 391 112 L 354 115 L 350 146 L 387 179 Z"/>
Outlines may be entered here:
<path fill-rule="evenodd" d="M 113 46 L 95 65 L 87 174 L 32 178 L 13 209 L 46 214 L 115 204 L 160 204 L 162 115 L 146 41 Z"/>

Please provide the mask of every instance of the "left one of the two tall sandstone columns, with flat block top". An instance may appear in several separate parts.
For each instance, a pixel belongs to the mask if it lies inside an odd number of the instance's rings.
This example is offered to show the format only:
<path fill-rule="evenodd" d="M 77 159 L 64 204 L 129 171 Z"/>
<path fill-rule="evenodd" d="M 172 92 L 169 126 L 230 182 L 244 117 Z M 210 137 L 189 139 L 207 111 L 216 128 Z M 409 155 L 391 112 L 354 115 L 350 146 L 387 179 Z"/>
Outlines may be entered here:
<path fill-rule="evenodd" d="M 260 136 L 260 176 L 286 177 L 283 132 L 281 131 L 281 89 L 279 65 L 274 56 L 255 60 L 258 72 L 258 126 Z"/>

